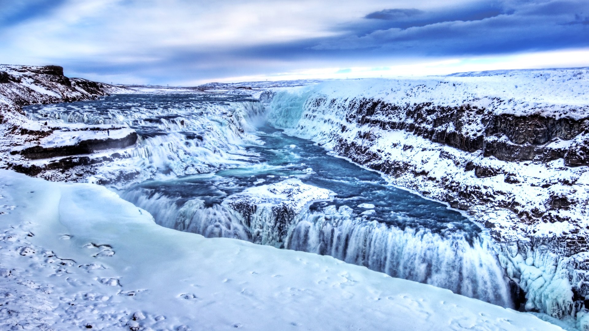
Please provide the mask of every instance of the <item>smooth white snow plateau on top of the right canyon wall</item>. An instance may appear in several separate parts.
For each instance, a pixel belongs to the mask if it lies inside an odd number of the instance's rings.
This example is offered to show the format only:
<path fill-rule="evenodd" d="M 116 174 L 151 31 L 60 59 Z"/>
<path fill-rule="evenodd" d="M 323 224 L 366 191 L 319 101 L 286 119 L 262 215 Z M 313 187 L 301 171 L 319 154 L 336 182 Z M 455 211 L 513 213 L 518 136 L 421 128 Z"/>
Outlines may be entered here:
<path fill-rule="evenodd" d="M 276 88 L 274 101 L 280 100 L 282 93 L 296 91 L 307 98 L 312 94 L 313 97 L 342 100 L 372 98 L 401 105 L 423 102 L 441 106 L 471 104 L 488 108 L 495 114 L 541 114 L 578 120 L 589 116 L 589 94 L 585 92 L 588 89 L 587 68 L 547 69 L 472 77 L 331 80 L 302 87 Z M 289 99 L 295 103 L 304 102 Z"/>

